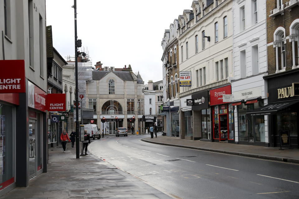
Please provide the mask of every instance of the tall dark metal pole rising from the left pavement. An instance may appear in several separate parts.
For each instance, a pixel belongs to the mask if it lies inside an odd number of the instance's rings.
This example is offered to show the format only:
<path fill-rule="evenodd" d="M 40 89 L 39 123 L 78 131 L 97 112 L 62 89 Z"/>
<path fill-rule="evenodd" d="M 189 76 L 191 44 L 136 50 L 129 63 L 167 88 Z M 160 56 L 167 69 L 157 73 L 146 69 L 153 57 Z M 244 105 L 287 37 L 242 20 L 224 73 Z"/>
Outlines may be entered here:
<path fill-rule="evenodd" d="M 75 76 L 76 76 L 76 158 L 80 158 L 79 143 L 79 109 L 78 109 L 78 50 L 77 50 L 77 1 L 74 0 L 74 17 L 75 17 Z"/>

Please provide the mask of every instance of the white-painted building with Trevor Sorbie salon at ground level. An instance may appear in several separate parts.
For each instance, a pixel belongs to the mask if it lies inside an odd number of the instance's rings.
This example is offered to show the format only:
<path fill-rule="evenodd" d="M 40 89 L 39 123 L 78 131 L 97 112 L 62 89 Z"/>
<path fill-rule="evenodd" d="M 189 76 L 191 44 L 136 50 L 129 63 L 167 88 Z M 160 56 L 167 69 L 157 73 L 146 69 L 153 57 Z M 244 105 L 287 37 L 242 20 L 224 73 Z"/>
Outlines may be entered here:
<path fill-rule="evenodd" d="M 267 12 L 268 13 L 268 12 Z M 266 0 L 234 0 L 231 81 L 235 142 L 268 146 L 268 116 L 246 114 L 268 104 Z"/>

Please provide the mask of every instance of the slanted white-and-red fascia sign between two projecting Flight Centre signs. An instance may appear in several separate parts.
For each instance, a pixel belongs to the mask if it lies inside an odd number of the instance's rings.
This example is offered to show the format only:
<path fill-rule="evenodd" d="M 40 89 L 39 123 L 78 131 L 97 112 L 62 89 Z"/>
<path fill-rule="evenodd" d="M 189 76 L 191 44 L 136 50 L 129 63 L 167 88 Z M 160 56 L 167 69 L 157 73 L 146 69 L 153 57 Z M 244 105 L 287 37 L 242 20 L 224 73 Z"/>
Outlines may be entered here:
<path fill-rule="evenodd" d="M 46 112 L 47 93 L 28 81 L 28 106 Z"/>

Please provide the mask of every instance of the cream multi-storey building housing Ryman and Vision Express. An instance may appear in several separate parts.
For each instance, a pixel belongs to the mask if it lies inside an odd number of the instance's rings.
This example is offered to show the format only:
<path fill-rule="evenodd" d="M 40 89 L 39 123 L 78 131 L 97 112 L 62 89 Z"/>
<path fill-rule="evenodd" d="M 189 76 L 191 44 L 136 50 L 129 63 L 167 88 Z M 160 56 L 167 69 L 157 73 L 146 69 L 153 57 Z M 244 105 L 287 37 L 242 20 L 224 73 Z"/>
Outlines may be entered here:
<path fill-rule="evenodd" d="M 181 138 L 235 142 L 232 104 L 222 99 L 234 75 L 233 1 L 198 0 L 191 7 L 178 17 Z"/>

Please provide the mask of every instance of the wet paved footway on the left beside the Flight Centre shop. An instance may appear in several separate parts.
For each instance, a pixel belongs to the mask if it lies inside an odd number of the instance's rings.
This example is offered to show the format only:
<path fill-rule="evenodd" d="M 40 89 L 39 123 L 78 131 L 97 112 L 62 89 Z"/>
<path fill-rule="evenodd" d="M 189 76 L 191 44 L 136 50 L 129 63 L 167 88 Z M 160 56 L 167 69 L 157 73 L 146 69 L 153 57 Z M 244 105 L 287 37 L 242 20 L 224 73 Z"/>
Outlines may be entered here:
<path fill-rule="evenodd" d="M 71 143 L 66 153 L 61 145 L 49 148 L 47 166 L 47 173 L 31 179 L 28 187 L 16 187 L 0 199 L 172 198 L 94 155 L 76 159 Z"/>

